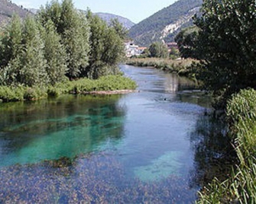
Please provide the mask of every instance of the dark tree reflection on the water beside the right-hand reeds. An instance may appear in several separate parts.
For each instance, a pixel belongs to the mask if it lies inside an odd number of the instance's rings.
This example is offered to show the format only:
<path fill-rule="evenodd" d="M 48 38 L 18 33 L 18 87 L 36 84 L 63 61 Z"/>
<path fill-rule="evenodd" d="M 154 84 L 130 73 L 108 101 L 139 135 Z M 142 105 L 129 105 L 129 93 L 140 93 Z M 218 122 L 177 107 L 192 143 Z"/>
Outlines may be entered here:
<path fill-rule="evenodd" d="M 228 178 L 235 151 L 222 120 L 202 115 L 190 132 L 190 142 L 194 150 L 194 168 L 190 172 L 191 186 L 206 186 L 214 177 Z"/>

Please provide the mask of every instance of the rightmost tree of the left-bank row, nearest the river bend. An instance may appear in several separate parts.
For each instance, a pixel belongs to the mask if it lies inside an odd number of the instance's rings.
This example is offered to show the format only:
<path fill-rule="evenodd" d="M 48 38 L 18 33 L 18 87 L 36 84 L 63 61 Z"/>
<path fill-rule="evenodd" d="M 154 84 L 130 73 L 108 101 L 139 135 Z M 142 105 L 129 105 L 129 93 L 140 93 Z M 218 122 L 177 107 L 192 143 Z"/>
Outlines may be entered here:
<path fill-rule="evenodd" d="M 118 62 L 121 61 L 124 53 L 124 43 L 120 33 L 115 27 L 109 27 L 105 21 L 91 11 L 86 14 L 90 28 L 90 60 L 87 69 L 89 78 L 99 78 L 101 75 L 116 74 Z"/>

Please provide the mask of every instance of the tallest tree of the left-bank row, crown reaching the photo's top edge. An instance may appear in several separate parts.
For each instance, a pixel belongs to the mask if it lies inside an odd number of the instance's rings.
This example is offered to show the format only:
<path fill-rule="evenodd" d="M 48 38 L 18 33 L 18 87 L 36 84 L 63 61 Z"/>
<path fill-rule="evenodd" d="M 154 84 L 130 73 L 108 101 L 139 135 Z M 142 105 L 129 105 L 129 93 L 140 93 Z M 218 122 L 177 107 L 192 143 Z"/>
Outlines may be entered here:
<path fill-rule="evenodd" d="M 54 0 L 41 8 L 37 18 L 41 24 L 53 21 L 66 49 L 66 65 L 69 78 L 83 77 L 89 64 L 89 24 L 86 16 L 74 8 L 72 0 L 62 4 Z"/>

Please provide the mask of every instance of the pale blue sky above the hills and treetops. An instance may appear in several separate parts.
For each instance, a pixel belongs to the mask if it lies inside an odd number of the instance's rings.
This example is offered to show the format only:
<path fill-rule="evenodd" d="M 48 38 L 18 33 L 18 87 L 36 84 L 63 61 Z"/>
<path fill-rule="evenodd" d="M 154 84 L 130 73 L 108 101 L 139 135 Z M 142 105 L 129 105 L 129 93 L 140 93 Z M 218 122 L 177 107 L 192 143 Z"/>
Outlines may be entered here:
<path fill-rule="evenodd" d="M 41 5 L 50 1 L 12 0 L 11 2 L 23 5 L 24 8 L 40 8 Z M 93 13 L 104 12 L 120 15 L 135 24 L 174 2 L 177 0 L 73 0 L 78 9 L 87 10 L 89 8 Z"/>

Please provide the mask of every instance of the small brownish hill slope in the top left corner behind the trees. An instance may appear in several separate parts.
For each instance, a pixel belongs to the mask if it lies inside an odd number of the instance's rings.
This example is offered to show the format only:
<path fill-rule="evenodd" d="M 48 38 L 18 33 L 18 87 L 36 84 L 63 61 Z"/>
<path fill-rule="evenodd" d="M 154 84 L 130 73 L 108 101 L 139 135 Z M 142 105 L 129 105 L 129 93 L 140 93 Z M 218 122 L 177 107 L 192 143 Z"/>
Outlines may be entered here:
<path fill-rule="evenodd" d="M 21 18 L 24 18 L 29 13 L 27 9 L 20 8 L 11 1 L 0 0 L 0 24 L 8 22 L 13 14 L 18 14 Z"/>

